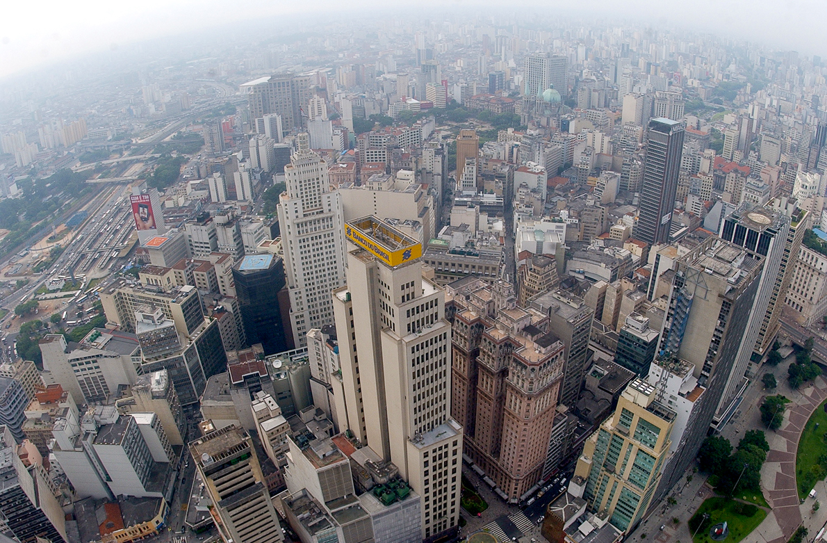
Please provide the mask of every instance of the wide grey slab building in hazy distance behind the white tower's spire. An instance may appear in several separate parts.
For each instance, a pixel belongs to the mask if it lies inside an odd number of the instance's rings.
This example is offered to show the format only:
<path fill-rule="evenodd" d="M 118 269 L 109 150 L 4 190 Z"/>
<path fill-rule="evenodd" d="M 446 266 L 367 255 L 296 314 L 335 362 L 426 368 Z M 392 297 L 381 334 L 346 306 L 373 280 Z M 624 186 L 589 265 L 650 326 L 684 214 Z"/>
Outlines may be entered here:
<path fill-rule="evenodd" d="M 250 118 L 275 114 L 281 117 L 282 133 L 301 130 L 304 126 L 302 112 L 313 96 L 311 78 L 311 75 L 275 74 L 242 84 L 241 92 L 247 94 Z"/>

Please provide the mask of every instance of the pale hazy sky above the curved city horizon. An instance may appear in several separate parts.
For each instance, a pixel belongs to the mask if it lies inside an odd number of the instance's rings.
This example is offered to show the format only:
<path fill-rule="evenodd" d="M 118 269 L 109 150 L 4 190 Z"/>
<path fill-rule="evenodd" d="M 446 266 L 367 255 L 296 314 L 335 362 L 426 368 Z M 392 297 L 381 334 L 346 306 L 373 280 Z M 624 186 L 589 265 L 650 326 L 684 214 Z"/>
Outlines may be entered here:
<path fill-rule="evenodd" d="M 447 6 L 499 8 L 507 2 L 482 0 L 5 0 L 0 18 L 0 77 L 93 50 L 173 36 L 216 26 L 243 26 L 251 17 L 307 12 L 342 13 L 394 5 L 428 9 Z M 618 17 L 713 31 L 827 58 L 827 0 L 529 0 L 540 12 L 580 12 L 602 20 Z M 526 9 L 519 2 L 519 9 Z M 576 11 L 574 11 L 576 10 Z M 480 10 L 483 11 L 483 10 Z M 435 13 L 436 15 L 436 13 Z M 282 28 L 273 27 L 274 35 Z"/>

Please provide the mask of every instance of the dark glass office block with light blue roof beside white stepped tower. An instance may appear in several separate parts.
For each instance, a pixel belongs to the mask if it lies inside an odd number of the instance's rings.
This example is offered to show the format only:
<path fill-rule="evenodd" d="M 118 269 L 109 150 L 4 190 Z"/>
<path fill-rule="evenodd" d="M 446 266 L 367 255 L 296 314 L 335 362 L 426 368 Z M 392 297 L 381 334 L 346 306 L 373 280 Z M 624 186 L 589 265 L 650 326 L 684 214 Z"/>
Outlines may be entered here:
<path fill-rule="evenodd" d="M 279 303 L 284 288 L 283 261 L 272 254 L 249 255 L 232 268 L 247 344 L 261 344 L 266 354 L 287 350 Z"/>

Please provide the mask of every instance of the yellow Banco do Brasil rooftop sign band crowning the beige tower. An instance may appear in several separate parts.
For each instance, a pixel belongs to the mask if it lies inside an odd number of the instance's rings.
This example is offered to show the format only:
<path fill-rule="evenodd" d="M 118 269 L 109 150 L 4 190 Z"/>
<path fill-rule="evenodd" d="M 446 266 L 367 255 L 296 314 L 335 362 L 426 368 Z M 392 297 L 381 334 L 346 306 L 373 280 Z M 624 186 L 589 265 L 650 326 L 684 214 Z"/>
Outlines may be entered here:
<path fill-rule="evenodd" d="M 373 216 L 348 221 L 345 236 L 390 267 L 422 256 L 422 244 Z"/>

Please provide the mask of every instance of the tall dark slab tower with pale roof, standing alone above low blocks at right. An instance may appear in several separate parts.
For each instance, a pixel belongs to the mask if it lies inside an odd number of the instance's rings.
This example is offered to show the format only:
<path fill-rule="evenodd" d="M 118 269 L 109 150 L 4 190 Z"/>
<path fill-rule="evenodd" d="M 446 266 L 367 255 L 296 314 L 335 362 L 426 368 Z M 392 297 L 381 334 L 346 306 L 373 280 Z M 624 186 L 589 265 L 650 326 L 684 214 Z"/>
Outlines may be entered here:
<path fill-rule="evenodd" d="M 640 213 L 634 238 L 650 245 L 669 241 L 685 129 L 686 123 L 667 118 L 649 122 Z"/>

